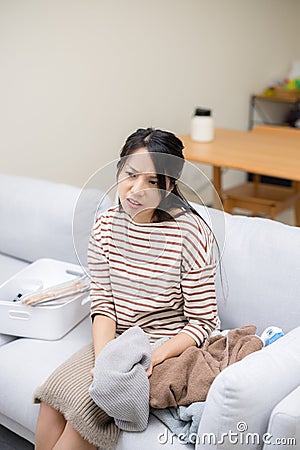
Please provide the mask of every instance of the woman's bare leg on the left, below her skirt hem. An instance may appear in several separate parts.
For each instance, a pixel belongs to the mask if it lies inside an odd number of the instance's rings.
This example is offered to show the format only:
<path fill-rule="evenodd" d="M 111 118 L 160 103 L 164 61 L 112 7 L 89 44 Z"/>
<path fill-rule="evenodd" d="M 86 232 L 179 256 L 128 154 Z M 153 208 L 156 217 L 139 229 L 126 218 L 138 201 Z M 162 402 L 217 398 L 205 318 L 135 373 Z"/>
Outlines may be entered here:
<path fill-rule="evenodd" d="M 35 450 L 52 450 L 66 426 L 66 420 L 56 409 L 41 403 L 35 433 Z"/>

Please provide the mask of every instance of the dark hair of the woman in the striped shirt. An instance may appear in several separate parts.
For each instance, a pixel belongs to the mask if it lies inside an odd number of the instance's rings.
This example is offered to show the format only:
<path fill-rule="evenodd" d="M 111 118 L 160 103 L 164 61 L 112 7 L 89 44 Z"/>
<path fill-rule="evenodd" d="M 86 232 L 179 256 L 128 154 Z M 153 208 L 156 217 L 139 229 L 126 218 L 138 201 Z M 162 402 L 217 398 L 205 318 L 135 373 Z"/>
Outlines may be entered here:
<path fill-rule="evenodd" d="M 161 192 L 161 201 L 154 211 L 153 222 L 172 220 L 172 210 L 178 209 L 182 213 L 192 212 L 201 217 L 189 204 L 177 186 L 177 180 L 181 176 L 185 162 L 183 156 L 184 146 L 181 140 L 170 131 L 139 128 L 131 134 L 126 139 L 120 153 L 120 159 L 117 165 L 117 177 L 124 167 L 127 158 L 140 148 L 146 148 L 150 154 L 157 174 L 158 188 Z M 170 180 L 171 195 L 168 195 L 166 189 L 166 177 Z M 201 219 L 203 220 L 202 217 Z"/>

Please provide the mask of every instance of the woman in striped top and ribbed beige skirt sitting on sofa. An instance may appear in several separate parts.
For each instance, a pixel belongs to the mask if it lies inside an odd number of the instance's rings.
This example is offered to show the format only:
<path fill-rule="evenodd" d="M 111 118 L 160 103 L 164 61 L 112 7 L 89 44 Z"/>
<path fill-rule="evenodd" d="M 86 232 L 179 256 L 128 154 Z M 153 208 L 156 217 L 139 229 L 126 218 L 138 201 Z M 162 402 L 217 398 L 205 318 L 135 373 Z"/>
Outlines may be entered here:
<path fill-rule="evenodd" d="M 179 193 L 183 144 L 172 133 L 139 129 L 117 168 L 119 205 L 94 224 L 88 253 L 93 346 L 70 358 L 39 388 L 37 450 L 113 448 L 117 430 L 90 399 L 93 365 L 104 346 L 138 325 L 153 368 L 200 346 L 219 327 L 213 235 Z"/>

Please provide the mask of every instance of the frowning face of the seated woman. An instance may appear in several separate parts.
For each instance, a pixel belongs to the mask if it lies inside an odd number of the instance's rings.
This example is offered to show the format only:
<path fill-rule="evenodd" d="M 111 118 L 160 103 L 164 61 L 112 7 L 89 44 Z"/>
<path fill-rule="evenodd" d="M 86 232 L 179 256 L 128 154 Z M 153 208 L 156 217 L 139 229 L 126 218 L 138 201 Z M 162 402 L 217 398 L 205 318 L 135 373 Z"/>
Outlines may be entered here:
<path fill-rule="evenodd" d="M 157 181 L 155 167 L 148 150 L 144 147 L 135 150 L 127 158 L 118 177 L 121 205 L 135 222 L 151 222 L 162 198 Z M 166 184 L 166 189 L 170 192 L 171 183 L 168 177 Z"/>

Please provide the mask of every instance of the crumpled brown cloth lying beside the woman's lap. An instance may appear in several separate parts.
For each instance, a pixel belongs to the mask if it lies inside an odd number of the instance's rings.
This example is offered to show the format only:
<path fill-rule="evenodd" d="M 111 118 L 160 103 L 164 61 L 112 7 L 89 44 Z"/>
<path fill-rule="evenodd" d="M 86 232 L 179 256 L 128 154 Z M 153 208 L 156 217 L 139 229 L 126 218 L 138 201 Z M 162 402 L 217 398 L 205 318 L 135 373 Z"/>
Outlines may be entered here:
<path fill-rule="evenodd" d="M 150 377 L 150 405 L 177 408 L 204 401 L 221 370 L 262 348 L 255 332 L 252 325 L 233 329 L 227 336 L 214 336 L 201 348 L 190 347 L 155 366 Z"/>

